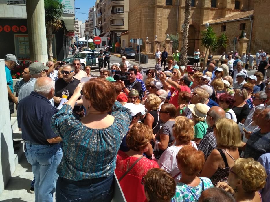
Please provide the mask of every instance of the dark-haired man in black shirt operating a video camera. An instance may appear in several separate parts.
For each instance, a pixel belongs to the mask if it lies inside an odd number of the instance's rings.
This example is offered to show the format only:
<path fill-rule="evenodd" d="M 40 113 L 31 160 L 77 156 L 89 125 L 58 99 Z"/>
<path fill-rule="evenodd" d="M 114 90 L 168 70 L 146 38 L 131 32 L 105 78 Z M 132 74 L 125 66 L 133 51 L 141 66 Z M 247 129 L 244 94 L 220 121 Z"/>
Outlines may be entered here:
<path fill-rule="evenodd" d="M 127 68 L 126 64 L 124 64 L 124 67 Z M 124 68 L 121 68 L 122 73 L 124 73 L 123 71 L 124 71 Z M 140 92 L 142 90 L 142 84 L 136 80 L 137 70 L 134 68 L 131 68 L 128 70 L 128 72 L 129 72 L 128 79 L 126 79 L 125 81 L 121 81 L 121 80 L 118 81 L 121 83 L 122 89 L 127 95 L 129 91 L 131 90 L 137 90 L 138 92 Z"/>

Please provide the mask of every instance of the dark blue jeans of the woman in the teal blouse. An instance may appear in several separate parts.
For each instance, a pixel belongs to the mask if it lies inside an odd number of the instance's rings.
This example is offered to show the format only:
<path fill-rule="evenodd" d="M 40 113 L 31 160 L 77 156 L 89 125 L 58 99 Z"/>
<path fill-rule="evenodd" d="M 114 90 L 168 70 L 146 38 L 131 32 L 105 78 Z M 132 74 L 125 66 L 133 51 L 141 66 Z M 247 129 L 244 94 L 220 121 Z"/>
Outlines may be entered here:
<path fill-rule="evenodd" d="M 56 183 L 56 202 L 110 202 L 113 198 L 113 177 L 83 179 L 73 181 L 58 177 Z"/>

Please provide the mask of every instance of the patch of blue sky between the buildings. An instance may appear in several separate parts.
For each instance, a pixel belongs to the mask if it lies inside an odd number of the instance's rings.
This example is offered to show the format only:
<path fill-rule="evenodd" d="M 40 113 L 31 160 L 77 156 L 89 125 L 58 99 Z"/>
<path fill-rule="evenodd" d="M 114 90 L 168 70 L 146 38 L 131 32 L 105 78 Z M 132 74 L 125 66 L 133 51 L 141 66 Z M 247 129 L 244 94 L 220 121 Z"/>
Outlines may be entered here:
<path fill-rule="evenodd" d="M 88 10 L 90 7 L 95 5 L 95 0 L 75 0 L 75 18 L 85 22 L 88 18 Z"/>

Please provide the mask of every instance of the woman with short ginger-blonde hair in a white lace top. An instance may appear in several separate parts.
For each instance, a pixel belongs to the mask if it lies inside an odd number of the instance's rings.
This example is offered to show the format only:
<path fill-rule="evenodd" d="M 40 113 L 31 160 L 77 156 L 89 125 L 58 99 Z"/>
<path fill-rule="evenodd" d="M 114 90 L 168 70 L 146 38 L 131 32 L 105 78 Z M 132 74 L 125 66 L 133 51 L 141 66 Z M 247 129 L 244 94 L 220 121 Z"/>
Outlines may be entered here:
<path fill-rule="evenodd" d="M 194 122 L 186 117 L 180 116 L 175 118 L 175 124 L 173 126 L 173 136 L 175 138 L 175 145 L 168 147 L 160 159 L 158 164 L 160 168 L 164 169 L 172 175 L 175 182 L 178 182 L 181 178 L 181 172 L 177 167 L 176 156 L 180 149 L 185 145 L 191 145 L 195 149 L 198 149 L 194 139 Z"/>

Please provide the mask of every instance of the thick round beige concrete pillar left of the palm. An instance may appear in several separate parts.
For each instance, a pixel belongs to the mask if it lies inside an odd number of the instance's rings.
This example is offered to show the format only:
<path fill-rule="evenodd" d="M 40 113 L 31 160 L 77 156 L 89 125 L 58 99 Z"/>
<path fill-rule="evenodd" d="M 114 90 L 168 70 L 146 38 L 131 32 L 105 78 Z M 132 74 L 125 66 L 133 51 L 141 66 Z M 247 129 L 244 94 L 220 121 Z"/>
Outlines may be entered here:
<path fill-rule="evenodd" d="M 30 60 L 48 61 L 44 0 L 26 1 Z"/>

